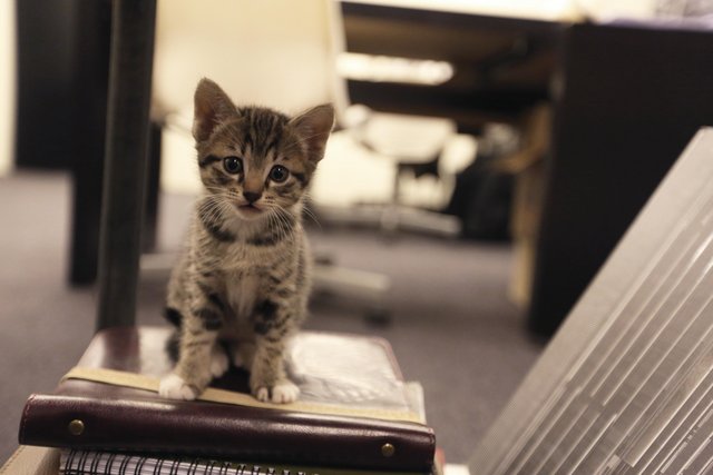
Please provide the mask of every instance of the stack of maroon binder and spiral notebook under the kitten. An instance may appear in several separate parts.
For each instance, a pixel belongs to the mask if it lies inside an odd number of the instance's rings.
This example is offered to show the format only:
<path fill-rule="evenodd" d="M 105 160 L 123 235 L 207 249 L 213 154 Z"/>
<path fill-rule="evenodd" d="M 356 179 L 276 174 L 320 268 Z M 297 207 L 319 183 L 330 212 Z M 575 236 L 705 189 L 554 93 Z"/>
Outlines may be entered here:
<path fill-rule="evenodd" d="M 231 368 L 199 400 L 157 394 L 168 328 L 98 333 L 52 394 L 29 397 L 23 445 L 57 447 L 60 474 L 432 474 L 422 390 L 379 338 L 302 333 L 289 405 L 257 402 Z"/>

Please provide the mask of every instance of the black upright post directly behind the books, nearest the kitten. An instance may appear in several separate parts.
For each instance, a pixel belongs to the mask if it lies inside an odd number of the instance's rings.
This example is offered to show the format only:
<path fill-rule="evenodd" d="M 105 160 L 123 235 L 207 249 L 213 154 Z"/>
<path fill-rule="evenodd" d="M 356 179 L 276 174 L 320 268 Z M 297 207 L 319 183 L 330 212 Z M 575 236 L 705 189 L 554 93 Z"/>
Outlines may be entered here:
<path fill-rule="evenodd" d="M 155 0 L 114 1 L 98 329 L 136 319 L 155 19 Z"/>

